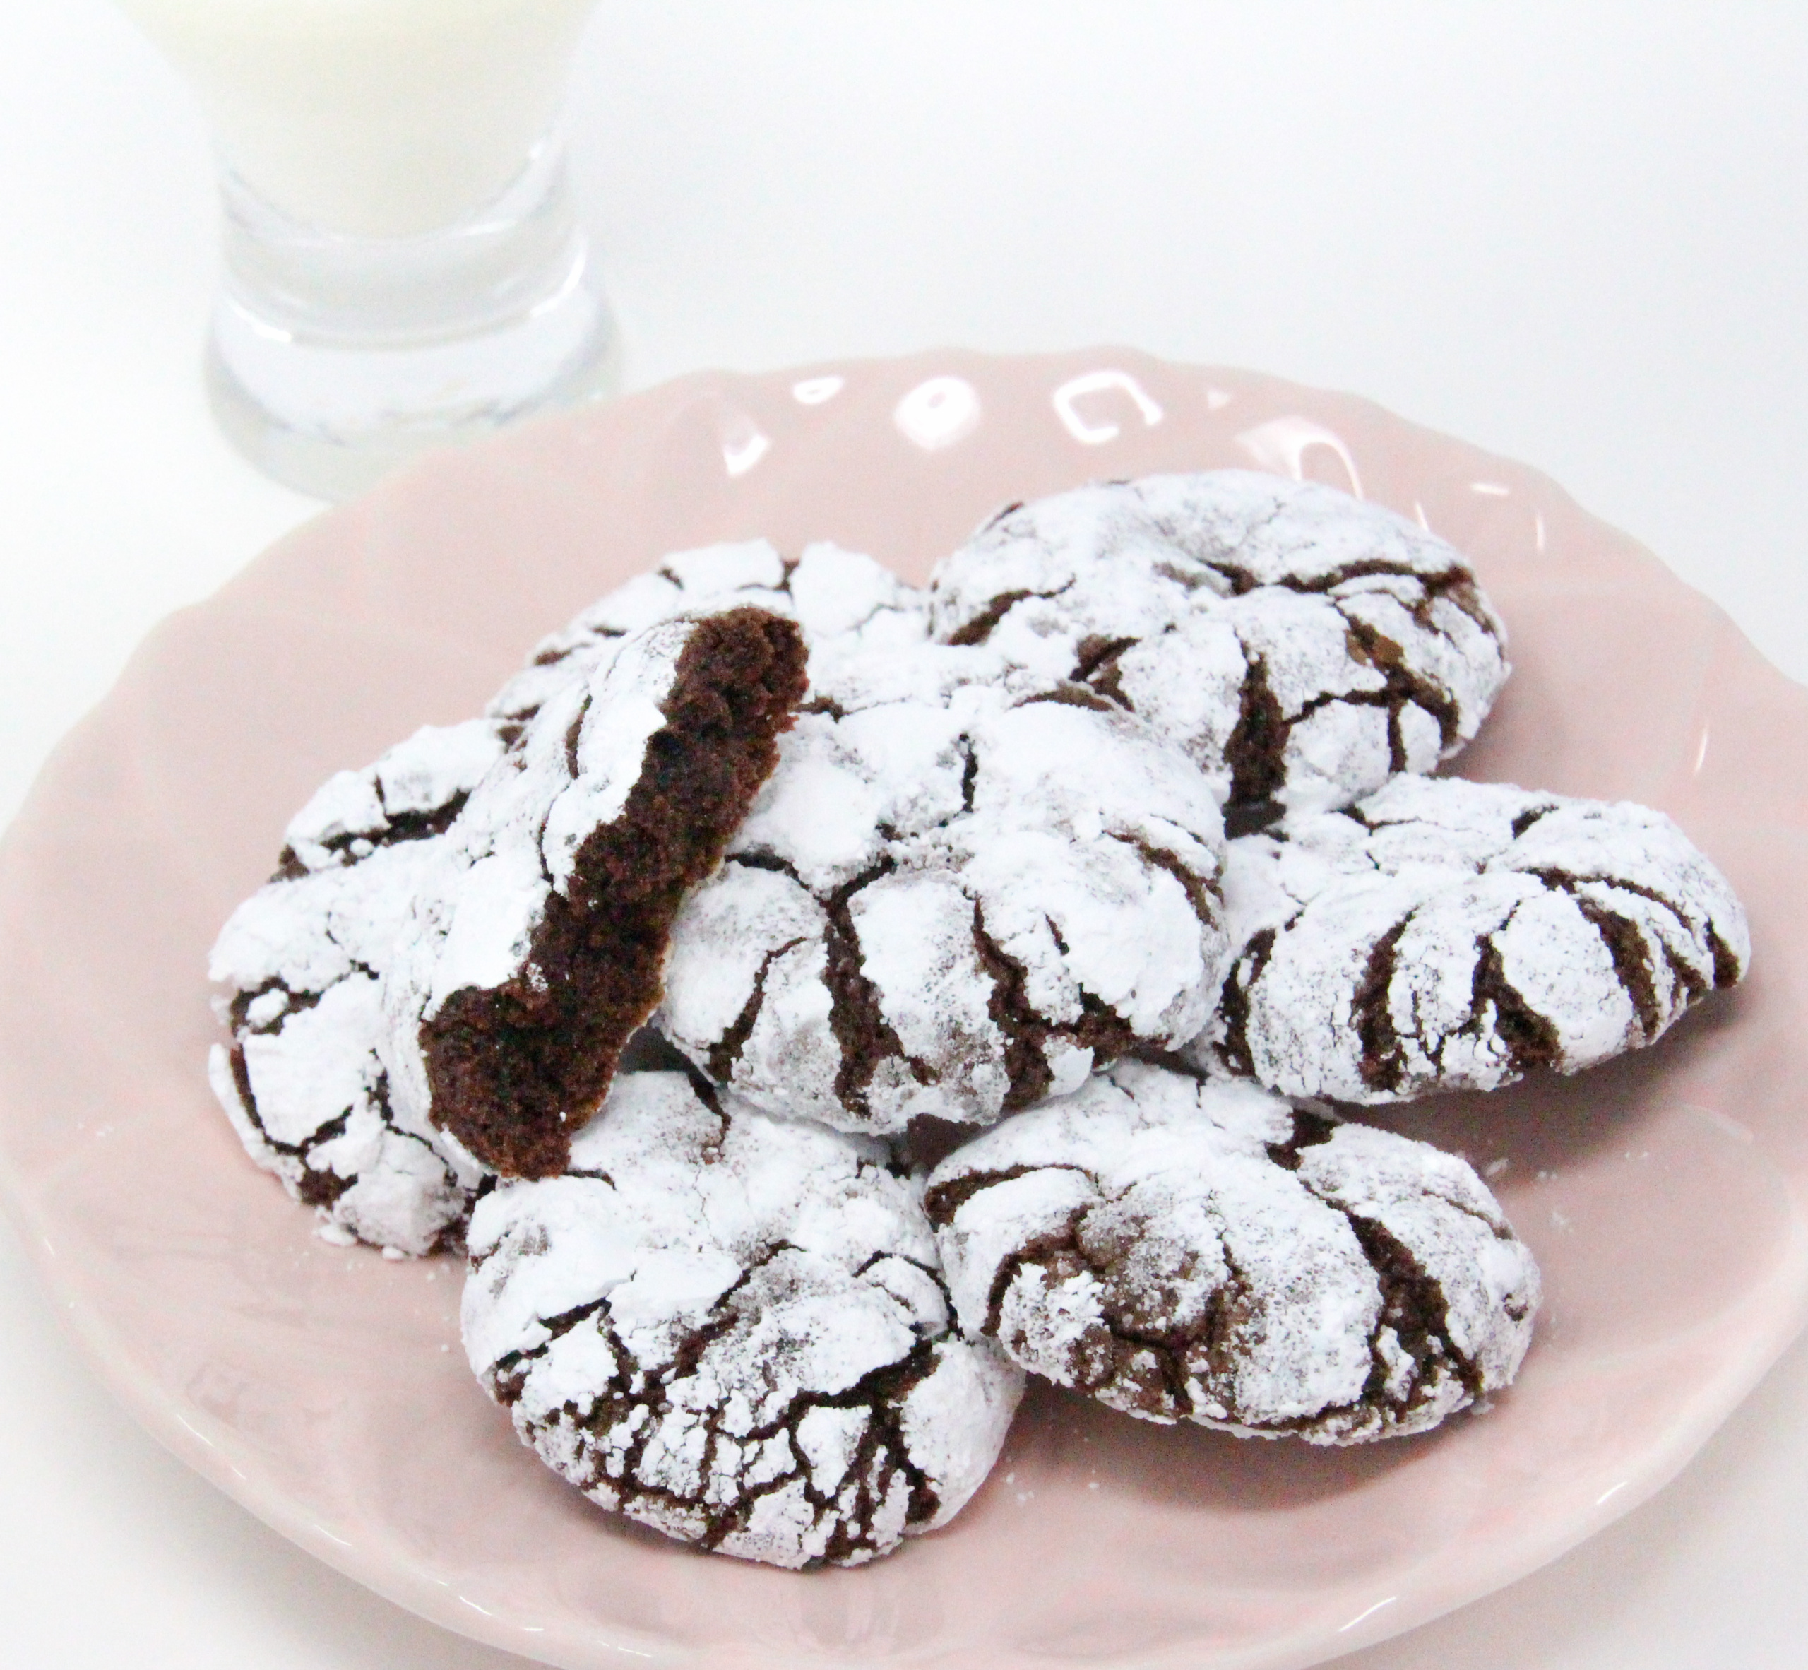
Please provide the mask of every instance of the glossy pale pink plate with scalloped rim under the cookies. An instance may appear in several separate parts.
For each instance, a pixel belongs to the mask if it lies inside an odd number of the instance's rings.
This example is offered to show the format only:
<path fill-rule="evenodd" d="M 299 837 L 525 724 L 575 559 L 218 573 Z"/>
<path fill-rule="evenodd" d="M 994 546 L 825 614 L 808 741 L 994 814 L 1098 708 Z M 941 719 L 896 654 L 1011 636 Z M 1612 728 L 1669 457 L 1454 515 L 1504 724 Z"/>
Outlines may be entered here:
<path fill-rule="evenodd" d="M 1258 465 L 1463 546 L 1517 673 L 1475 776 L 1663 807 L 1756 970 L 1656 1049 L 1399 1124 L 1486 1167 L 1548 1303 L 1486 1419 L 1360 1451 L 1032 1393 L 946 1531 L 853 1572 L 589 1507 L 457 1348 L 459 1268 L 318 1241 L 202 1080 L 202 963 L 329 771 L 474 713 L 664 552 L 835 539 L 920 577 L 1005 499 Z M 165 622 L 0 850 L 0 1183 L 101 1373 L 177 1455 L 403 1607 L 550 1665 L 1309 1665 L 1649 1496 L 1808 1317 L 1808 691 L 1519 465 L 1360 400 L 1135 353 L 692 376 L 432 458 Z M 65 1308 L 67 1306 L 67 1308 Z"/>

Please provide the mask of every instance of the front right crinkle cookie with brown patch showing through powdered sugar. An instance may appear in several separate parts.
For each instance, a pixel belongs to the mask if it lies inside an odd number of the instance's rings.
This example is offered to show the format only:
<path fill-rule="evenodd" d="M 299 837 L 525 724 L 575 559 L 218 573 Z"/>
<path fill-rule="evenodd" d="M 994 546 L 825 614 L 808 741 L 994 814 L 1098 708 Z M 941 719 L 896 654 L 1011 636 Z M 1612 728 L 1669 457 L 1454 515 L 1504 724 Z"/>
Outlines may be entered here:
<path fill-rule="evenodd" d="M 1508 1386 L 1539 1272 L 1475 1172 L 1119 1064 L 929 1176 L 962 1330 L 1150 1420 L 1356 1444 Z"/>

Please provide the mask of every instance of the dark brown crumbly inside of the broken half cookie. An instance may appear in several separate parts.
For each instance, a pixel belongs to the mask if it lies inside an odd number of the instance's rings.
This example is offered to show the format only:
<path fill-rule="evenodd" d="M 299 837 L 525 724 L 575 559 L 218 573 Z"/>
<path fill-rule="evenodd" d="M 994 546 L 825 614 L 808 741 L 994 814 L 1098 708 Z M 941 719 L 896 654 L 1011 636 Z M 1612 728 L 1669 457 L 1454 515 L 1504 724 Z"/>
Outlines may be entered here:
<path fill-rule="evenodd" d="M 698 622 L 665 726 L 622 814 L 577 850 L 523 973 L 454 992 L 421 1028 L 434 1124 L 506 1176 L 557 1176 L 622 1048 L 662 995 L 673 919 L 777 765 L 806 686 L 792 621 L 739 608 Z"/>

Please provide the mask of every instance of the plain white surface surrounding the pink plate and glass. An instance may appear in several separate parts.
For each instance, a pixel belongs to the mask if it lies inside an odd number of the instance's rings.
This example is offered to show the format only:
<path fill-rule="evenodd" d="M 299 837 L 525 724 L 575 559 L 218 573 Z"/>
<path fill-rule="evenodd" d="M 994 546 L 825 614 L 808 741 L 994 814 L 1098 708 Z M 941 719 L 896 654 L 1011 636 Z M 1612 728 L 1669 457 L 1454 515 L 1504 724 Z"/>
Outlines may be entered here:
<path fill-rule="evenodd" d="M 1126 342 L 1539 465 L 1808 678 L 1808 7 L 604 0 L 573 154 L 627 382 Z M 0 821 L 143 631 L 313 512 L 199 389 L 206 134 L 0 0 Z M 101 1017 L 103 1019 L 103 1017 Z M 72 1040 L 80 1048 L 80 1040 Z M 168 1458 L 0 1227 L 29 1670 L 504 1670 Z M 1808 1659 L 1808 1346 L 1653 1504 L 1352 1670 Z"/>

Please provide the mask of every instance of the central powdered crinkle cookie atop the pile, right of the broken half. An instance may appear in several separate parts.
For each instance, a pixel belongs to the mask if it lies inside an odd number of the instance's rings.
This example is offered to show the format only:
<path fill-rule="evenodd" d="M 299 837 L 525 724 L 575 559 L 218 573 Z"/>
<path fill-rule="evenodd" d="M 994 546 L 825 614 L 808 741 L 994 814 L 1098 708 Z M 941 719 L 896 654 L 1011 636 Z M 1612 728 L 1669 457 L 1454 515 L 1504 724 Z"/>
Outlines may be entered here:
<path fill-rule="evenodd" d="M 660 1028 L 772 1113 L 989 1124 L 1204 1024 L 1220 852 L 1191 762 L 1085 686 L 848 659 L 685 903 Z"/>

